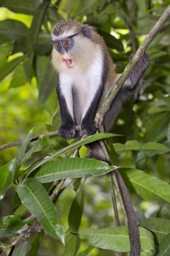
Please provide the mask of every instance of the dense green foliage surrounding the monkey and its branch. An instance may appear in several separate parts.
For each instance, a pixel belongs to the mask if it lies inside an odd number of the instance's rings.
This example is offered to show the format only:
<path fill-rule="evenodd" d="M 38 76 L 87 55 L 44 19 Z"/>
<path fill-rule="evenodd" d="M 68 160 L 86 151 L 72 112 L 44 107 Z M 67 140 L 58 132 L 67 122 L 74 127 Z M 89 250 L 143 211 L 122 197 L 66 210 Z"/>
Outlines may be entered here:
<path fill-rule="evenodd" d="M 104 175 L 114 167 L 85 158 L 85 144 L 107 138 L 111 160 L 137 212 L 142 255 L 170 254 L 170 20 L 148 47 L 151 61 L 141 92 L 125 104 L 113 134 L 77 142 L 54 136 L 28 143 L 33 134 L 56 131 L 60 124 L 50 63 L 52 27 L 64 19 L 97 27 L 121 73 L 168 3 L 1 1 L 1 144 L 22 140 L 20 147 L 1 150 L 1 250 L 9 253 L 11 240 L 16 242 L 13 256 L 114 256 L 115 251 L 130 250 L 119 204 L 122 226 L 116 227 Z M 72 158 L 78 147 L 79 157 Z"/>

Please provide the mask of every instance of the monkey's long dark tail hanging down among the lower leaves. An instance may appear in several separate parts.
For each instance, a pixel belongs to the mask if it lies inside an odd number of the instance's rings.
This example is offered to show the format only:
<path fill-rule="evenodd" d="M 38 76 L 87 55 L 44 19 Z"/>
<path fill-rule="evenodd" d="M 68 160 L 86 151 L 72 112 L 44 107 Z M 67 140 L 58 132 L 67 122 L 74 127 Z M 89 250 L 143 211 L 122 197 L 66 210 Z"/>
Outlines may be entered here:
<path fill-rule="evenodd" d="M 96 159 L 107 162 L 104 152 L 98 141 L 92 142 L 91 144 L 89 144 L 89 147 L 92 151 L 92 155 L 94 155 Z M 129 195 L 128 189 L 124 184 L 122 176 L 119 174 L 118 169 L 114 169 L 114 172 L 118 180 L 118 185 L 124 201 L 124 207 L 128 218 L 129 237 L 131 243 L 131 256 L 140 256 L 140 237 L 137 225 L 137 216 L 135 214 L 135 210 L 131 202 L 131 197 Z"/>

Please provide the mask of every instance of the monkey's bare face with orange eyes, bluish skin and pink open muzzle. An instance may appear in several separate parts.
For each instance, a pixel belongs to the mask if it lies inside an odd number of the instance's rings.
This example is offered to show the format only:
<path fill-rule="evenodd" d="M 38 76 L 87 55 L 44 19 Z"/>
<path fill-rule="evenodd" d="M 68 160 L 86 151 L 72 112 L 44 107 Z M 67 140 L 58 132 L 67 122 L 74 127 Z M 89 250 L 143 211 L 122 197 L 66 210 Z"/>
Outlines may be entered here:
<path fill-rule="evenodd" d="M 73 40 L 71 37 L 52 40 L 55 49 L 59 53 L 60 60 L 65 63 L 65 65 L 69 68 L 74 67 L 74 61 L 71 59 L 69 52 L 73 47 Z"/>

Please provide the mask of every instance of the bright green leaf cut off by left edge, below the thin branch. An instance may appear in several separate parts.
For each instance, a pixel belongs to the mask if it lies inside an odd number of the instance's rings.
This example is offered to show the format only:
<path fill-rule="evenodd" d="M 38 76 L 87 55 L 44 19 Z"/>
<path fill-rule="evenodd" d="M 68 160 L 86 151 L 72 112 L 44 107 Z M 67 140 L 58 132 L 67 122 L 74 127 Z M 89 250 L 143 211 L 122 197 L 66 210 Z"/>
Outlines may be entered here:
<path fill-rule="evenodd" d="M 15 159 L 0 168 L 0 200 L 2 200 L 13 183 Z"/>

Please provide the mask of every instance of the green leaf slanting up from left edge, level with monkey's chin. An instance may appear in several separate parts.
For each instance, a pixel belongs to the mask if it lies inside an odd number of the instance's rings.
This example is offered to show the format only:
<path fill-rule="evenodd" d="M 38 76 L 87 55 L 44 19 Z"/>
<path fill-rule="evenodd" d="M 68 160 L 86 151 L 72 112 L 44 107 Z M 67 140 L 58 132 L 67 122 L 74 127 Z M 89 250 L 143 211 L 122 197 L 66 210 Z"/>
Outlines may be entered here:
<path fill-rule="evenodd" d="M 20 65 L 21 61 L 23 61 L 27 57 L 27 54 L 15 58 L 12 61 L 7 62 L 0 70 L 0 81 L 2 81 L 8 74 Z"/>

